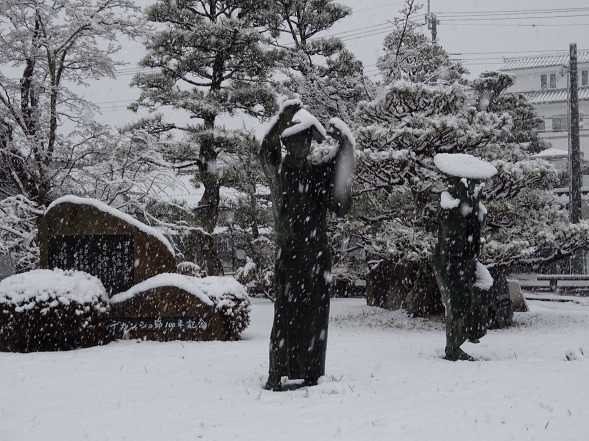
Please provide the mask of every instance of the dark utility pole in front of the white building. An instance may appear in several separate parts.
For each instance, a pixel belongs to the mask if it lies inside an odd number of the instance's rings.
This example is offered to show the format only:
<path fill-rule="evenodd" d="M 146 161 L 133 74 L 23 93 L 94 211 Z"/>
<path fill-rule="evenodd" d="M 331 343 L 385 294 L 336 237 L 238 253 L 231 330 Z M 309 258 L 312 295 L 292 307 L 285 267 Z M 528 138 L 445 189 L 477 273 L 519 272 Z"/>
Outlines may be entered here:
<path fill-rule="evenodd" d="M 573 224 L 581 221 L 581 144 L 579 139 L 579 76 L 577 71 L 577 44 L 569 46 L 569 139 L 570 139 L 570 170 L 571 188 L 569 192 L 569 216 Z M 584 252 L 575 253 L 571 262 L 571 270 L 575 274 L 583 274 Z"/>

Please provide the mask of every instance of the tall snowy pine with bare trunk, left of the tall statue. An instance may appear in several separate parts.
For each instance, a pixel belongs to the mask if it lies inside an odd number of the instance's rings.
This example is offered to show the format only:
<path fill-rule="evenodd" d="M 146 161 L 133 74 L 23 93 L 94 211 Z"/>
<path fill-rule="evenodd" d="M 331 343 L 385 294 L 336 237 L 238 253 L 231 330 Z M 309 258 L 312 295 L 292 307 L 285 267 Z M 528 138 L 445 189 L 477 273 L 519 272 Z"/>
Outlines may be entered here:
<path fill-rule="evenodd" d="M 168 106 L 195 121 L 167 129 L 186 134 L 179 154 L 197 167 L 197 181 L 205 187 L 195 214 L 208 233 L 219 218 L 224 182 L 219 159 L 238 151 L 244 139 L 242 131 L 226 129 L 221 118 L 236 112 L 265 117 L 276 109 L 267 83 L 275 54 L 254 26 L 252 14 L 258 9 L 248 0 L 159 0 L 147 9 L 157 31 L 140 62 L 150 72 L 132 82 L 141 89 L 132 108 Z M 221 270 L 215 261 L 209 259 L 210 273 Z"/>

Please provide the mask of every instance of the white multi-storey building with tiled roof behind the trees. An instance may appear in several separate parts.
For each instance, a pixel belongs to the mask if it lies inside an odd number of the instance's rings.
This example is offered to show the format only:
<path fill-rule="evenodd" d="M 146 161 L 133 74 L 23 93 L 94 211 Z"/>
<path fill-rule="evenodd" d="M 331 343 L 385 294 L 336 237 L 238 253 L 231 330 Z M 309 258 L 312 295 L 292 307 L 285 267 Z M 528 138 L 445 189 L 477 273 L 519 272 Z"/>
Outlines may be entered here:
<path fill-rule="evenodd" d="M 581 155 L 589 158 L 589 50 L 578 51 L 579 133 Z M 553 148 L 568 151 L 569 55 L 504 58 L 500 70 L 516 76 L 509 92 L 521 92 L 544 123 L 541 137 Z"/>

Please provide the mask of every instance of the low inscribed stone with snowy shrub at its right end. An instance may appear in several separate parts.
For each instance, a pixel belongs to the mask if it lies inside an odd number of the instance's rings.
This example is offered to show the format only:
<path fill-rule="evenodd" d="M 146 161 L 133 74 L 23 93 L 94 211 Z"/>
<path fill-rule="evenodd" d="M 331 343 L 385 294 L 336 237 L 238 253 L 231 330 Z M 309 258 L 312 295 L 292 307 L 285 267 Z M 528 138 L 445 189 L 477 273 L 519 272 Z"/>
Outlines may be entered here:
<path fill-rule="evenodd" d="M 160 274 L 111 298 L 113 338 L 155 341 L 237 340 L 250 301 L 231 277 Z"/>

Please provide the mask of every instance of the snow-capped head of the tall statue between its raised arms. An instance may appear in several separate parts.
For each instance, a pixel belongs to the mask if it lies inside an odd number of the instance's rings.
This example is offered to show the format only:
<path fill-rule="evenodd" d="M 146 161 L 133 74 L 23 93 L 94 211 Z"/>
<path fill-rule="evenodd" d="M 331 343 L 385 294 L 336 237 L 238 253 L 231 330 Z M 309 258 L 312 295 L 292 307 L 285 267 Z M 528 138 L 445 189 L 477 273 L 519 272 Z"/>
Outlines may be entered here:
<path fill-rule="evenodd" d="M 306 158 L 311 153 L 311 142 L 322 142 L 327 132 L 321 123 L 304 109 L 299 110 L 292 119 L 280 139 L 287 153 L 297 158 Z"/>

